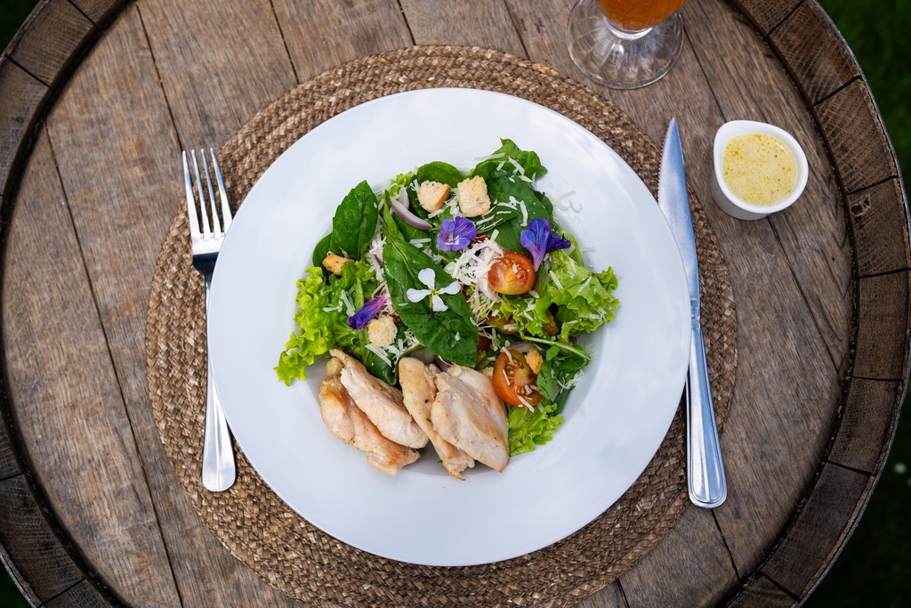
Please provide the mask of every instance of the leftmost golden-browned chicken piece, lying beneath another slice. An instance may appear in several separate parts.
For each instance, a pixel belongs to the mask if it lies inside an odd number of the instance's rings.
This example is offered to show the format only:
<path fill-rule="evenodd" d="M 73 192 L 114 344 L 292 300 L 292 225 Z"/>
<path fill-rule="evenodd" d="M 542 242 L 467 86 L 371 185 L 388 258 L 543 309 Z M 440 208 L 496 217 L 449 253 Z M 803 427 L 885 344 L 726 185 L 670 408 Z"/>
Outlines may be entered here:
<path fill-rule="evenodd" d="M 333 435 L 367 454 L 374 469 L 394 475 L 420 458 L 420 453 L 384 438 L 364 414 L 338 378 L 326 378 L 320 385 L 320 414 Z"/>

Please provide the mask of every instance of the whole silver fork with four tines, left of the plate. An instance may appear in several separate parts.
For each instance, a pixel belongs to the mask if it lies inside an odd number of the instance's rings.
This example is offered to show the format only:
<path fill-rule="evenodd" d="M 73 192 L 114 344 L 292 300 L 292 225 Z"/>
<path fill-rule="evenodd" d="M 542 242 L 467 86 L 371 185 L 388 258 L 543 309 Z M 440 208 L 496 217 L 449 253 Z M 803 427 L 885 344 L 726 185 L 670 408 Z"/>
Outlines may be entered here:
<path fill-rule="evenodd" d="M 187 151 L 184 150 L 183 152 L 183 176 L 187 181 L 187 212 L 189 214 L 190 241 L 193 247 L 193 267 L 202 274 L 206 283 L 207 340 L 209 335 L 209 292 L 212 283 L 212 271 L 215 270 L 215 260 L 219 256 L 221 242 L 224 240 L 225 232 L 230 227 L 231 220 L 228 195 L 225 194 L 224 181 L 221 180 L 219 161 L 215 158 L 215 152 L 211 148 L 209 153 L 212 159 L 212 170 L 218 183 L 221 215 L 224 218 L 224 231 L 221 230 L 219 211 L 215 203 L 215 193 L 212 191 L 209 163 L 206 162 L 206 152 L 203 149 L 200 150 L 200 156 L 202 157 L 202 172 L 206 177 L 205 181 L 211 204 L 211 229 L 209 213 L 206 211 L 205 190 L 202 187 L 202 180 L 200 180 L 200 166 L 196 160 L 196 150 L 190 150 L 189 152 L 193 161 L 192 177 L 196 178 L 196 187 L 200 192 L 200 214 L 202 215 L 202 229 L 200 232 L 200 219 L 196 213 L 196 199 L 193 196 L 193 181 L 189 172 L 189 164 L 187 163 Z M 220 492 L 231 487 L 237 474 L 234 468 L 234 450 L 230 445 L 228 422 L 225 420 L 224 411 L 221 409 L 221 402 L 212 378 L 208 345 L 206 353 L 206 369 L 209 377 L 206 382 L 206 427 L 202 441 L 202 485 L 210 491 Z"/>

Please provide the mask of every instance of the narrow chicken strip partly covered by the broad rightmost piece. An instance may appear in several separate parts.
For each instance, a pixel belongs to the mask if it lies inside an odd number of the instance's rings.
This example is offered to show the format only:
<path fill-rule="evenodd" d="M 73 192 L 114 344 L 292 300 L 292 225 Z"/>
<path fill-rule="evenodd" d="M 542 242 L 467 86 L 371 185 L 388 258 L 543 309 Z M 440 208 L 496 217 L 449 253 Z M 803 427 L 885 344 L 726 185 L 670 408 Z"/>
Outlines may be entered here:
<path fill-rule="evenodd" d="M 423 361 L 415 357 L 405 356 L 399 361 L 399 382 L 402 384 L 404 407 L 415 418 L 418 426 L 424 429 L 449 474 L 456 479 L 465 479 L 462 471 L 474 467 L 475 459 L 440 437 L 430 422 L 430 410 L 436 398 L 434 377 L 439 371 L 436 366 L 425 366 Z"/>

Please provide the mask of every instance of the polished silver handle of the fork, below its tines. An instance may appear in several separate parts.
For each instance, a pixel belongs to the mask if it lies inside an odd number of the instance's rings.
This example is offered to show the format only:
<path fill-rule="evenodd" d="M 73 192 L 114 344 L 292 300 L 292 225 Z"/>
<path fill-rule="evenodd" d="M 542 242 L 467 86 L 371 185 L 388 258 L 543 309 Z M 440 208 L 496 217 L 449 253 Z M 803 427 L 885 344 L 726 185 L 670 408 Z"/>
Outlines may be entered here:
<path fill-rule="evenodd" d="M 206 280 L 206 319 L 209 319 L 210 281 Z M 209 335 L 209 332 L 206 332 Z M 206 428 L 202 439 L 202 485 L 212 492 L 229 489 L 237 477 L 228 421 L 221 409 L 212 376 L 209 348 L 206 348 Z"/>

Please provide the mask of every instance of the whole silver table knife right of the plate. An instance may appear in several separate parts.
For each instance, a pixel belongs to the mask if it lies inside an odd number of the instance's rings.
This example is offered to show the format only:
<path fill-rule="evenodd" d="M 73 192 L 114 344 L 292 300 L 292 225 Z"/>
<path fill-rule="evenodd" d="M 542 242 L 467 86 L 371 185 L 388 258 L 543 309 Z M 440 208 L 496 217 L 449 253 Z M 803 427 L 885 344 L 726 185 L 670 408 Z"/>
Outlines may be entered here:
<path fill-rule="evenodd" d="M 658 206 L 667 218 L 670 232 L 673 232 L 680 249 L 690 287 L 692 340 L 690 370 L 686 381 L 687 479 L 690 500 L 699 507 L 714 509 L 727 498 L 728 486 L 724 479 L 722 448 L 718 441 L 715 409 L 711 404 L 709 371 L 705 363 L 700 322 L 699 263 L 696 261 L 696 240 L 692 233 L 690 197 L 686 191 L 683 149 L 677 119 L 670 119 L 668 134 L 664 137 L 664 148 L 661 149 Z"/>

